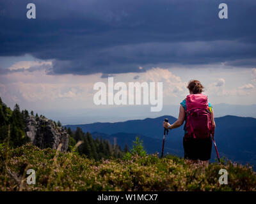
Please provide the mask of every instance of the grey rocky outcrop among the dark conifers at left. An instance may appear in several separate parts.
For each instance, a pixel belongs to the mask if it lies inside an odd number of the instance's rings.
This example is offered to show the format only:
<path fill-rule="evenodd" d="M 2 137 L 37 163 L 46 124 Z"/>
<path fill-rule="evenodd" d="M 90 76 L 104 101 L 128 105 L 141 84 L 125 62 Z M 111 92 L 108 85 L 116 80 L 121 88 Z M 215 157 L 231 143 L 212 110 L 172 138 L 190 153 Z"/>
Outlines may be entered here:
<path fill-rule="evenodd" d="M 68 149 L 68 134 L 65 129 L 58 127 L 53 120 L 44 116 L 35 117 L 30 115 L 26 119 L 25 132 L 33 145 L 41 149 L 47 147 L 58 149 L 60 144 L 61 152 L 66 152 Z"/>

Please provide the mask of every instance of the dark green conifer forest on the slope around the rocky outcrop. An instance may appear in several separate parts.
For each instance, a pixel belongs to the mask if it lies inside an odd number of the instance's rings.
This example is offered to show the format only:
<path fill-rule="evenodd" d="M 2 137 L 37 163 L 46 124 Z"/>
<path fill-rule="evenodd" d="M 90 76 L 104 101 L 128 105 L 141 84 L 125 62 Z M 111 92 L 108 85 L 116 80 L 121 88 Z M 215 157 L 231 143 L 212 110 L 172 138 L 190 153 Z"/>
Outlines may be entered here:
<path fill-rule="evenodd" d="M 31 125 L 31 123 L 28 124 L 28 119 L 29 121 L 31 120 L 31 115 L 34 115 L 33 111 L 31 111 L 30 113 L 28 112 L 28 110 L 20 111 L 20 107 L 17 104 L 12 110 L 8 106 L 6 106 L 0 98 L 0 144 L 8 143 L 8 147 L 15 148 L 31 142 L 25 131 L 25 129 L 28 129 L 28 126 L 29 129 L 35 129 L 35 127 L 31 128 L 31 126 L 33 126 Z M 44 115 L 38 116 L 38 114 L 36 113 L 35 120 L 38 124 L 40 124 L 40 127 L 37 128 L 40 128 L 41 132 L 44 132 L 45 123 L 40 123 L 40 121 L 48 121 L 48 119 L 45 119 Z M 62 128 L 60 121 L 53 121 L 53 123 L 54 129 Z M 102 138 L 95 138 L 94 140 L 90 133 L 83 133 L 81 128 L 77 128 L 75 131 L 71 131 L 70 128 L 65 128 L 65 130 L 68 133 L 68 151 L 74 149 L 76 143 L 80 142 L 81 145 L 79 145 L 76 151 L 80 155 L 84 154 L 92 159 L 99 160 L 101 158 L 107 159 L 109 157 L 120 158 L 124 155 L 124 151 L 121 150 L 120 146 L 113 145 L 109 143 L 108 140 L 103 140 Z M 40 138 L 40 140 L 44 140 L 44 138 Z M 40 147 L 40 145 L 37 146 Z M 51 145 L 45 146 L 49 147 Z M 125 152 L 127 152 L 127 149 L 125 150 Z"/>

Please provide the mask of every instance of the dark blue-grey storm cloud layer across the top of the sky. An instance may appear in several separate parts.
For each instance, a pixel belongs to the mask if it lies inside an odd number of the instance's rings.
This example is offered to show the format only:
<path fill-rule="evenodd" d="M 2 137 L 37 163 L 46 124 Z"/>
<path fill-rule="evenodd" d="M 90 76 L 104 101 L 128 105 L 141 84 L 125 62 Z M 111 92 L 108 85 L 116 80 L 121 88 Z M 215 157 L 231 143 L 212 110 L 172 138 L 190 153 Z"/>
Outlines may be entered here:
<path fill-rule="evenodd" d="M 26 4 L 36 4 L 36 19 Z M 54 0 L 0 3 L 0 55 L 53 59 L 49 74 L 140 72 L 157 64 L 255 66 L 256 1 Z"/>

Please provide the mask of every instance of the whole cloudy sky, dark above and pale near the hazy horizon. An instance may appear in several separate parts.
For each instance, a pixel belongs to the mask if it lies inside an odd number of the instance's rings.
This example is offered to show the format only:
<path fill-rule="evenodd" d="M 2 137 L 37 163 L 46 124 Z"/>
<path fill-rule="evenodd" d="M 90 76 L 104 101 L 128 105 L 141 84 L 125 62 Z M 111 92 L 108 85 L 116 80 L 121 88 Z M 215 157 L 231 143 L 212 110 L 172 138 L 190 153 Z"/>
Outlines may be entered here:
<path fill-rule="evenodd" d="M 179 105 L 193 78 L 212 104 L 255 104 L 255 10 L 255 0 L 0 1 L 0 96 L 42 113 L 94 110 L 93 84 L 113 76 L 163 82 L 164 105 Z"/>

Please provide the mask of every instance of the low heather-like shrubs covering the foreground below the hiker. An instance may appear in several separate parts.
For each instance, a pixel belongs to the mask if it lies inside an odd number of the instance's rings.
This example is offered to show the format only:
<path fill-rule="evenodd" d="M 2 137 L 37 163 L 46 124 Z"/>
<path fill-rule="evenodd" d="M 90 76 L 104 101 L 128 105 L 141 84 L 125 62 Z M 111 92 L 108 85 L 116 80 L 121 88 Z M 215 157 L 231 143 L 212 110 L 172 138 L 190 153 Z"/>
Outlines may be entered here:
<path fill-rule="evenodd" d="M 26 183 L 26 170 L 36 171 L 36 184 Z M 228 184 L 220 185 L 221 168 Z M 249 166 L 188 164 L 179 157 L 129 154 L 124 159 L 88 159 L 31 144 L 0 147 L 1 191 L 255 191 Z"/>

